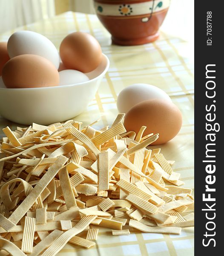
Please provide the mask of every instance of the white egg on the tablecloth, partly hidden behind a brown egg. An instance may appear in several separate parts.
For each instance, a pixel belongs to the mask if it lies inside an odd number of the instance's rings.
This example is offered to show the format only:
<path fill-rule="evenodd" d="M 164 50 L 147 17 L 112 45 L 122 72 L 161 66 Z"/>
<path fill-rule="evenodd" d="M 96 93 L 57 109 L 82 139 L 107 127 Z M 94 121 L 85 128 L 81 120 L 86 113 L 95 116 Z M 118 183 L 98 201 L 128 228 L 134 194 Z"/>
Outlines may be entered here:
<path fill-rule="evenodd" d="M 167 93 L 151 84 L 132 84 L 118 95 L 117 107 L 120 113 L 127 113 L 136 104 L 149 99 L 164 99 L 172 102 Z"/>

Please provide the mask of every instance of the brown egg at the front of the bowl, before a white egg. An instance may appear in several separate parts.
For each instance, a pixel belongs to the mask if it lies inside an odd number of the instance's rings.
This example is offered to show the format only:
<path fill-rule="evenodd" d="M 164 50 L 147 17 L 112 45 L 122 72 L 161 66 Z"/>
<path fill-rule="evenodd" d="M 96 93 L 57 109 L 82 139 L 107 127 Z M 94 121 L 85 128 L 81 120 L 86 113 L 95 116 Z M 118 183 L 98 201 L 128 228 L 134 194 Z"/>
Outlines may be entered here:
<path fill-rule="evenodd" d="M 2 78 L 7 88 L 59 85 L 59 73 L 52 62 L 32 54 L 11 58 L 3 67 Z"/>

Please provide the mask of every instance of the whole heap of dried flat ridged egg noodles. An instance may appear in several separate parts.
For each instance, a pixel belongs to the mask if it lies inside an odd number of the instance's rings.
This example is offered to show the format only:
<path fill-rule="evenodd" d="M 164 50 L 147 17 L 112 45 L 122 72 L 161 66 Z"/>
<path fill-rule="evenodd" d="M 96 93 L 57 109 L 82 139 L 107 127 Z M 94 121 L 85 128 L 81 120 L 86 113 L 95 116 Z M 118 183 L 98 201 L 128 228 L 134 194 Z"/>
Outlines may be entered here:
<path fill-rule="evenodd" d="M 0 148 L 0 253 L 53 256 L 66 243 L 95 246 L 98 228 L 112 235 L 180 234 L 194 225 L 192 189 L 184 188 L 158 134 L 69 120 L 3 129 Z"/>

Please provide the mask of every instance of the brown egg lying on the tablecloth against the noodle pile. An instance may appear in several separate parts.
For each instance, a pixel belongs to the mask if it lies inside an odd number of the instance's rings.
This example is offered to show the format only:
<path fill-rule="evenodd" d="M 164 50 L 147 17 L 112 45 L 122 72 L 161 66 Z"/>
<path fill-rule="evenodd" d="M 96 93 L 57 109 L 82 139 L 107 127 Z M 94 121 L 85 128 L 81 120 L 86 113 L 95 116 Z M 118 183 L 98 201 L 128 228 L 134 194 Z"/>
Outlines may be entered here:
<path fill-rule="evenodd" d="M 180 131 L 182 114 L 172 102 L 161 99 L 146 100 L 131 108 L 124 119 L 126 130 L 135 131 L 136 134 L 143 125 L 147 127 L 143 136 L 159 134 L 158 140 L 152 145 L 163 144 Z"/>

